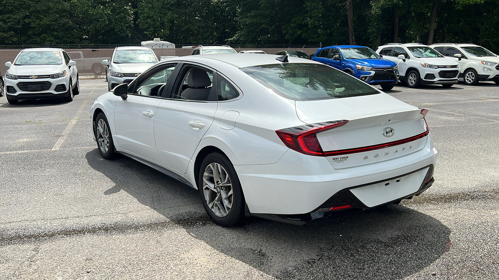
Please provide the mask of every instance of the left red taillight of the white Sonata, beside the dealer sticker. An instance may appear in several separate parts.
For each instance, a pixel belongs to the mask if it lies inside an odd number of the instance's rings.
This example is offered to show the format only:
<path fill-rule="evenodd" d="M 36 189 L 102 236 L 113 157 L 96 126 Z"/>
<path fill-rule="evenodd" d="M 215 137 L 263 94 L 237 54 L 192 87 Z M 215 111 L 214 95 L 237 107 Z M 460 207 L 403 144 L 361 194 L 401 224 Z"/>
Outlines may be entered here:
<path fill-rule="evenodd" d="M 290 149 L 316 156 L 325 156 L 317 139 L 319 132 L 346 125 L 347 120 L 316 123 L 275 131 L 279 139 Z"/>

